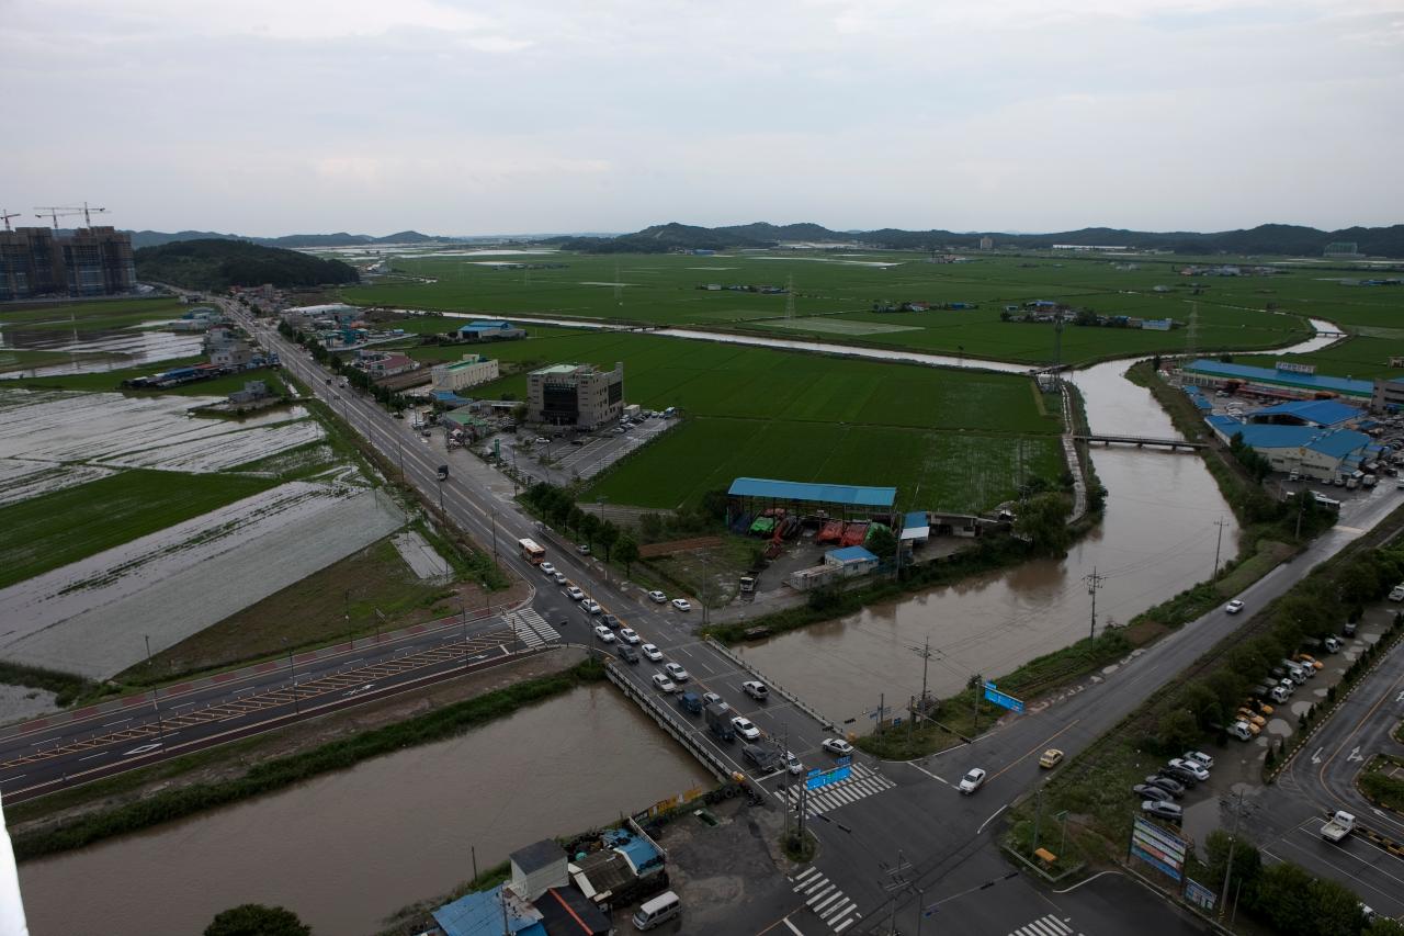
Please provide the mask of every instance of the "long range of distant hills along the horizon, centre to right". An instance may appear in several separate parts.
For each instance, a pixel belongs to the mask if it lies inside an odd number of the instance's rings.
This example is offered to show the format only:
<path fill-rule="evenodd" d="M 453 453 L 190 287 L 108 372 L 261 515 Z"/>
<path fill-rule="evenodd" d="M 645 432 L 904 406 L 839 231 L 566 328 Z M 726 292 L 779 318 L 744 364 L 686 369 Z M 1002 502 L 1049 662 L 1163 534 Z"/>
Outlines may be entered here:
<path fill-rule="evenodd" d="M 1000 232 L 953 230 L 830 230 L 816 223 L 771 225 L 755 222 L 727 228 L 698 228 L 667 223 L 614 238 L 548 238 L 564 250 L 588 253 L 667 253 L 670 250 L 724 250 L 727 247 L 771 247 L 782 242 L 861 243 L 869 247 L 903 250 L 970 250 L 980 238 L 993 238 L 1001 247 L 1039 250 L 1056 243 L 1078 246 L 1127 246 L 1141 250 L 1171 250 L 1191 254 L 1290 254 L 1320 257 L 1325 246 L 1338 240 L 1355 242 L 1363 254 L 1404 257 L 1404 225 L 1389 228 L 1345 228 L 1318 230 L 1299 225 L 1258 225 L 1247 230 L 1198 233 L 1192 230 L 1148 232 L 1118 228 L 1082 228 L 1057 233 L 1014 235 Z"/>

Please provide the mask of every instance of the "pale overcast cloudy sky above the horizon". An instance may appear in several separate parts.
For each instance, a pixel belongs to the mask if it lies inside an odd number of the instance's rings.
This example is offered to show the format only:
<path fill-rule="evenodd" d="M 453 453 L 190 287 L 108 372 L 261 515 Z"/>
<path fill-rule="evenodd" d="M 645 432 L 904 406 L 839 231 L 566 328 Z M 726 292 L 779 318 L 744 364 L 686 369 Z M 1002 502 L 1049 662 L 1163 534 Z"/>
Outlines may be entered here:
<path fill-rule="evenodd" d="M 1404 222 L 1404 0 L 0 0 L 0 205 L 249 235 Z"/>

